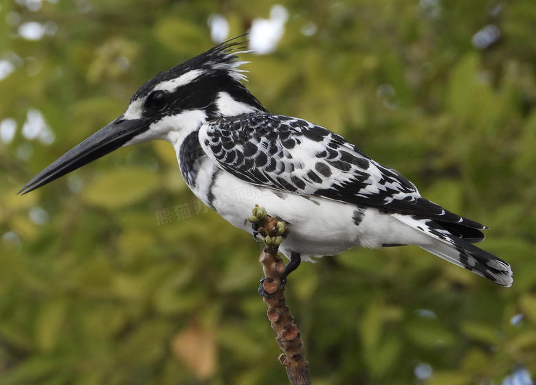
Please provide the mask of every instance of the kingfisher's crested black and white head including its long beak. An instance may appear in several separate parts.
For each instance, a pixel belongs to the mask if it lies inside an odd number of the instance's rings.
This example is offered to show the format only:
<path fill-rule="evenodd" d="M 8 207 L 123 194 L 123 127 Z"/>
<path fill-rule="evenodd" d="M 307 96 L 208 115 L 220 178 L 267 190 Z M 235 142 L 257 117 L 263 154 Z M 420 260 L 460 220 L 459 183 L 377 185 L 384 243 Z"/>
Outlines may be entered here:
<path fill-rule="evenodd" d="M 54 161 L 19 191 L 26 194 L 120 147 L 154 139 L 178 143 L 204 121 L 266 112 L 241 80 L 237 38 L 156 75 L 133 95 L 125 112 Z"/>

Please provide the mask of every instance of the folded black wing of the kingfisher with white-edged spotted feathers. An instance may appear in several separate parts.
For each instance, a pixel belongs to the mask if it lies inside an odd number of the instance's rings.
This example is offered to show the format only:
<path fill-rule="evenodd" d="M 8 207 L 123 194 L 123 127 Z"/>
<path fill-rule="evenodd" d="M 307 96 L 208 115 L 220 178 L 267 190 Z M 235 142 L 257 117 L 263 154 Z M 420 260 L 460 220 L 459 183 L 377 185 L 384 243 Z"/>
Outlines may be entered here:
<path fill-rule="evenodd" d="M 223 170 L 255 185 L 485 228 L 421 198 L 399 172 L 302 119 L 267 113 L 214 119 L 201 127 L 199 142 Z"/>

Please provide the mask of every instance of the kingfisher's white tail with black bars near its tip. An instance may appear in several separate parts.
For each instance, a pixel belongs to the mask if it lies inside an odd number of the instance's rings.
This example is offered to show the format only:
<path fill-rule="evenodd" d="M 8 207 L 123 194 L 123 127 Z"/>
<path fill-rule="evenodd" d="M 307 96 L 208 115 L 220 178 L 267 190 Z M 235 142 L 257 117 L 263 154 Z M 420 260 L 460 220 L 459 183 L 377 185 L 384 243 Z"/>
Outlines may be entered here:
<path fill-rule="evenodd" d="M 434 220 L 416 219 L 409 215 L 397 215 L 397 217 L 400 217 L 398 219 L 402 222 L 429 235 L 430 242 L 417 245 L 427 252 L 466 268 L 499 285 L 507 288 L 512 285 L 512 270 L 510 265 L 502 259 L 452 235 Z M 418 222 L 418 226 L 415 222 Z"/>

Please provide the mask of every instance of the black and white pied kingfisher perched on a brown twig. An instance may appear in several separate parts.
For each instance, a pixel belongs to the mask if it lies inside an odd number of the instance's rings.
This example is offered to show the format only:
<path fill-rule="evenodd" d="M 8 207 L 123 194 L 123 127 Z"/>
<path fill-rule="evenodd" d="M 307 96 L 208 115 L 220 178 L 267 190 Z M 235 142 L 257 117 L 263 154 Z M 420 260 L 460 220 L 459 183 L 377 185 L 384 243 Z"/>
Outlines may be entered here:
<path fill-rule="evenodd" d="M 255 204 L 291 229 L 280 251 L 301 260 L 357 246 L 415 244 L 500 285 L 505 261 L 474 246 L 486 226 L 425 198 L 399 172 L 343 137 L 303 119 L 272 115 L 243 84 L 240 40 L 231 39 L 164 71 L 126 111 L 49 165 L 22 194 L 126 145 L 169 141 L 181 174 L 205 205 L 234 226 Z"/>

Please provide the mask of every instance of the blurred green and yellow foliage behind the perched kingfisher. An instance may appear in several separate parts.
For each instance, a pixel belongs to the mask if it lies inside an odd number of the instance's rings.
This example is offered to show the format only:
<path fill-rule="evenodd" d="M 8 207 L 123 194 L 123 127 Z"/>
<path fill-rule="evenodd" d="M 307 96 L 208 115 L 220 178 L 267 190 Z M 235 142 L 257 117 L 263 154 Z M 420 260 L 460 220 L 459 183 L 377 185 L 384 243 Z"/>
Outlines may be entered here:
<path fill-rule="evenodd" d="M 536 372 L 536 3 L 280 3 L 278 49 L 243 55 L 252 93 L 490 226 L 482 247 L 515 272 L 502 288 L 412 246 L 300 266 L 287 294 L 314 384 L 498 384 L 517 364 Z M 0 143 L 0 384 L 287 382 L 256 293 L 259 246 L 198 205 L 168 143 L 118 150 L 16 196 L 139 85 L 210 48 L 210 14 L 235 36 L 271 5 L 0 3 L 0 58 L 15 63 L 0 80 L 0 121 L 17 123 Z M 16 31 L 27 21 L 58 29 L 25 40 Z M 478 49 L 471 38 L 489 24 L 501 36 Z M 52 144 L 21 134 L 30 108 Z M 191 218 L 179 220 L 183 204 Z M 166 208 L 172 222 L 159 225 Z M 433 375 L 416 378 L 419 364 Z"/>

